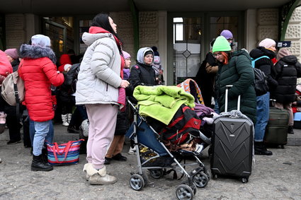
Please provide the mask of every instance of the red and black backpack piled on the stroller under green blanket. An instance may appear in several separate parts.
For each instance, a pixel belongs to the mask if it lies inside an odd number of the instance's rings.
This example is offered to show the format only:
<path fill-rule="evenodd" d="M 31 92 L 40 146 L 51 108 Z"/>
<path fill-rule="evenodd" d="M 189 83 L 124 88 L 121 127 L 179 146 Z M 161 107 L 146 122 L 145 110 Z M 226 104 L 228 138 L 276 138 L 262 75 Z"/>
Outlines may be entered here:
<path fill-rule="evenodd" d="M 181 145 L 200 136 L 200 118 L 191 107 L 181 105 L 167 127 L 159 132 L 161 139 Z"/>

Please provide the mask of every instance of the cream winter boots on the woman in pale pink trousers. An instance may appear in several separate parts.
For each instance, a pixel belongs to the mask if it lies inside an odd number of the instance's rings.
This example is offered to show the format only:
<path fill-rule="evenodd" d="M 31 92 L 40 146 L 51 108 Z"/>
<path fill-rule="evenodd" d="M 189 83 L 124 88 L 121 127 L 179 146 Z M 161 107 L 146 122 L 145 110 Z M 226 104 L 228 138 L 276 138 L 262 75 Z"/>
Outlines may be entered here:
<path fill-rule="evenodd" d="M 100 170 L 96 170 L 92 165 L 86 166 L 87 175 L 89 175 L 90 184 L 114 184 L 117 179 L 106 172 L 106 166 Z"/>

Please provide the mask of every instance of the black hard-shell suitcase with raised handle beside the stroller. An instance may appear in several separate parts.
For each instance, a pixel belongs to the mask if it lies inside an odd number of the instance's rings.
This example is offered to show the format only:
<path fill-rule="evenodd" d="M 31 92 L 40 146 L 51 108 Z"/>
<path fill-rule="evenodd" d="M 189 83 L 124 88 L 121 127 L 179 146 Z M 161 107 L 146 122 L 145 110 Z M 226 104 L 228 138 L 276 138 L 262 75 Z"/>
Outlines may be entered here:
<path fill-rule="evenodd" d="M 228 90 L 228 89 L 227 89 Z M 225 112 L 227 112 L 227 93 Z M 237 110 L 240 106 L 240 96 Z M 212 177 L 240 177 L 248 182 L 253 155 L 253 123 L 243 117 L 220 117 L 213 122 L 210 167 Z"/>

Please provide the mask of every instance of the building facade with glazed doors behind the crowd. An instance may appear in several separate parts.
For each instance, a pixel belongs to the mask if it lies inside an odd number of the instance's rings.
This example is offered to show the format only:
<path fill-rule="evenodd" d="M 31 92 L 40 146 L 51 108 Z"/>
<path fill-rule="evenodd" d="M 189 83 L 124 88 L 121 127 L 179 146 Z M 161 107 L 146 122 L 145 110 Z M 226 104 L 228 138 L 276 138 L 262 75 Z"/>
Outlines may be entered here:
<path fill-rule="evenodd" d="M 292 1 L 295 5 L 296 1 Z M 291 4 L 292 4 L 291 3 Z M 135 14 L 137 14 L 135 18 Z M 42 33 L 52 40 L 57 57 L 74 49 L 84 54 L 81 35 L 89 30 L 94 15 L 4 13 L 0 16 L 1 49 L 18 48 L 32 35 Z M 124 50 L 135 64 L 137 49 L 158 48 L 166 84 L 194 77 L 210 42 L 224 29 L 231 30 L 236 48 L 248 51 L 266 37 L 280 41 L 283 18 L 280 8 L 250 8 L 244 11 L 113 11 Z M 301 58 L 301 8 L 293 11 L 283 40 L 292 41 L 290 51 Z"/>

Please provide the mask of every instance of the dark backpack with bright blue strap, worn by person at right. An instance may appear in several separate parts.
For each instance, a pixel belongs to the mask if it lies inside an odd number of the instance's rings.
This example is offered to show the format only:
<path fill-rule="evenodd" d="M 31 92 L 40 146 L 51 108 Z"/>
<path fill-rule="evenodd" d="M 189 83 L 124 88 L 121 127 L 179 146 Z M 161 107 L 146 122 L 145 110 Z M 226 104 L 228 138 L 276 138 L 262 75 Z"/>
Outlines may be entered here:
<path fill-rule="evenodd" d="M 255 68 L 255 62 L 258 61 L 259 59 L 262 58 L 268 58 L 267 56 L 262 56 L 256 59 L 251 59 L 251 64 L 252 67 L 254 69 L 254 88 L 255 88 L 255 92 L 256 92 L 256 96 L 261 96 L 264 95 L 268 92 L 268 80 L 266 77 L 266 74 L 264 74 L 263 71 L 261 71 L 260 69 L 256 69 Z"/>

